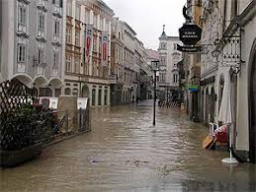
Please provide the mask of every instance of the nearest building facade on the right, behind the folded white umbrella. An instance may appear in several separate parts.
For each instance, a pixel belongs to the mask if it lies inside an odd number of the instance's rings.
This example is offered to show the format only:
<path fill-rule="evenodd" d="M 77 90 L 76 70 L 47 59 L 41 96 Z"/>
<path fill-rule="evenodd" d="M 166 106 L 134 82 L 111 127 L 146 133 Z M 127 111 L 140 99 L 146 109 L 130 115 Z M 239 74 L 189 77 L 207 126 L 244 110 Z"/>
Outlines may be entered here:
<path fill-rule="evenodd" d="M 230 123 L 234 153 L 255 162 L 256 2 L 202 1 L 200 6 L 200 119 Z"/>

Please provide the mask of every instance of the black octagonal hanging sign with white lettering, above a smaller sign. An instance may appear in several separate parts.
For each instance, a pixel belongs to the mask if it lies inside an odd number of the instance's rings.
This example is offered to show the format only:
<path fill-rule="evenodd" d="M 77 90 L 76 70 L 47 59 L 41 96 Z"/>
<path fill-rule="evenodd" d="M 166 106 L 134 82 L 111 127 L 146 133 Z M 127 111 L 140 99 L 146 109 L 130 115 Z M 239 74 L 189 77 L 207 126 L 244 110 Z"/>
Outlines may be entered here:
<path fill-rule="evenodd" d="M 184 25 L 179 29 L 179 34 L 184 44 L 195 45 L 201 39 L 202 29 L 197 25 Z"/>

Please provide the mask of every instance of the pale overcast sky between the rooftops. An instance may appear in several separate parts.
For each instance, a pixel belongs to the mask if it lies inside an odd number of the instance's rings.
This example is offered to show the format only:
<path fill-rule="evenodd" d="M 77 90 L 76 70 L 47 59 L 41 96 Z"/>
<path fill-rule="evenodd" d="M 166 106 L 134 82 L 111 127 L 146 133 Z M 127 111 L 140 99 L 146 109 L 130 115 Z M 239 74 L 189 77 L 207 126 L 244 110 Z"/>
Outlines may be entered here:
<path fill-rule="evenodd" d="M 146 48 L 158 48 L 158 37 L 165 24 L 167 35 L 178 35 L 184 23 L 186 0 L 104 0 L 116 17 L 128 23 Z"/>

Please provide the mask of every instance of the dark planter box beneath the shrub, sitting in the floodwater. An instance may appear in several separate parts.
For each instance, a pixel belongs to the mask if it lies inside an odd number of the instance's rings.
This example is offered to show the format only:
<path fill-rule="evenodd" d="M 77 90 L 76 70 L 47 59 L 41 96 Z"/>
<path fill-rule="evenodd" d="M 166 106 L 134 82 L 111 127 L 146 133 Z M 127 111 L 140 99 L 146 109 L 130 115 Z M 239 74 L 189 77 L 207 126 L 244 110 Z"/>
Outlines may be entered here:
<path fill-rule="evenodd" d="M 11 167 L 32 160 L 41 154 L 42 148 L 43 143 L 38 143 L 17 151 L 0 150 L 0 166 Z"/>

